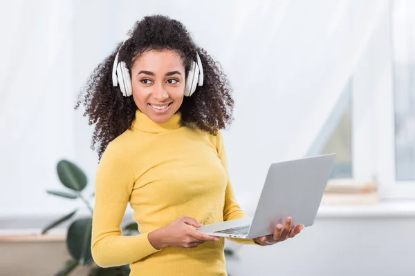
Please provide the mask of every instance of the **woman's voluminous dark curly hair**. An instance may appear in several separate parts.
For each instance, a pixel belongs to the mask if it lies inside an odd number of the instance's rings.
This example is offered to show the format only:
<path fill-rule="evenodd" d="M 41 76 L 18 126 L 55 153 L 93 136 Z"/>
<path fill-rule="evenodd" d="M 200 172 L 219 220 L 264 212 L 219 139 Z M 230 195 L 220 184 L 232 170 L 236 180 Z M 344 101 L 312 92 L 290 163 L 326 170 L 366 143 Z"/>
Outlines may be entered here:
<path fill-rule="evenodd" d="M 89 125 L 95 124 L 91 149 L 98 146 L 99 158 L 113 139 L 131 128 L 138 109 L 133 97 L 124 97 L 119 87 L 113 87 L 114 58 L 119 52 L 118 60 L 126 63 L 131 75 L 134 61 L 149 50 L 178 52 L 186 76 L 191 62 L 196 61 L 196 52 L 201 58 L 203 86 L 198 86 L 191 97 L 184 97 L 179 108 L 182 126 L 216 135 L 217 130 L 226 128 L 233 120 L 232 88 L 220 64 L 196 46 L 181 22 L 163 15 L 147 16 L 137 21 L 129 31 L 129 38 L 118 43 L 111 55 L 93 70 L 78 97 L 75 110 L 83 103 L 84 117 L 89 117 Z"/>

